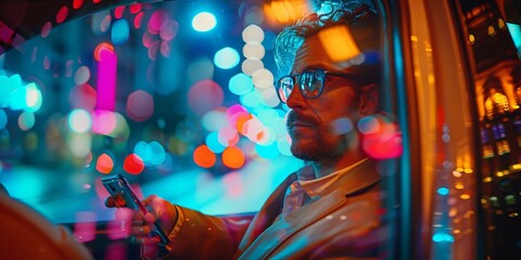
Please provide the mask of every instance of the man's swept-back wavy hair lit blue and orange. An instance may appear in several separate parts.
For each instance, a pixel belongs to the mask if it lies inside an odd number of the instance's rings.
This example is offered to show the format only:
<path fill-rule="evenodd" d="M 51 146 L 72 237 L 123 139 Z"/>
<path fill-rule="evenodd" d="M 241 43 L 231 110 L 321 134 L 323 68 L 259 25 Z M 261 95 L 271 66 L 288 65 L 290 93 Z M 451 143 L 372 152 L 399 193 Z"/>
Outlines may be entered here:
<path fill-rule="evenodd" d="M 320 4 L 320 3 L 319 3 Z M 360 66 L 363 77 L 378 82 L 380 52 L 380 21 L 372 3 L 354 0 L 322 1 L 318 11 L 287 26 L 275 40 L 275 62 L 279 75 L 287 75 L 293 66 L 294 55 L 307 37 L 323 28 L 347 25 L 365 62 Z M 370 65 L 370 66 L 367 66 Z M 369 69 L 369 70 L 368 70 Z M 368 72 L 367 72 L 368 70 Z"/>

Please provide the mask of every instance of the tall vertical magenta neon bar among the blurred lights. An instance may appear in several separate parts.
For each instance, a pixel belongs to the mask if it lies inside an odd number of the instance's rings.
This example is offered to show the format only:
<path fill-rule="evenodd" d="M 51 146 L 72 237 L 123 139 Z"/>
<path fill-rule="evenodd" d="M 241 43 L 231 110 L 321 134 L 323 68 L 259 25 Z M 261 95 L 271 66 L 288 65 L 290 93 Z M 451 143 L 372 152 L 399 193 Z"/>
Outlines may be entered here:
<path fill-rule="evenodd" d="M 101 44 L 107 44 L 106 42 Z M 101 46 L 100 44 L 100 46 Z M 99 47 L 100 47 L 99 46 Z M 112 46 L 111 46 L 112 47 Z M 98 60 L 98 99 L 96 108 L 114 110 L 116 102 L 117 55 L 111 47 L 96 49 Z"/>

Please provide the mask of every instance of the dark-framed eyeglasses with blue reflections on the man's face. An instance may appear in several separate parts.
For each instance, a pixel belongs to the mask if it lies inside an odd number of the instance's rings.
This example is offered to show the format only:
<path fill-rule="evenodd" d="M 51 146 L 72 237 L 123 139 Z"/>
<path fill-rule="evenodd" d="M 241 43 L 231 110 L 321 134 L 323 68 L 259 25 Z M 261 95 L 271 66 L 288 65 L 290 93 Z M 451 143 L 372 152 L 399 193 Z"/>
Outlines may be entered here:
<path fill-rule="evenodd" d="M 329 75 L 353 80 L 357 78 L 352 74 L 329 72 L 321 68 L 312 68 L 302 72 L 302 74 L 288 75 L 276 82 L 280 101 L 287 103 L 291 92 L 293 92 L 295 82 L 298 82 L 298 88 L 304 98 L 308 100 L 317 99 L 322 94 L 323 82 L 326 81 L 326 76 Z"/>

